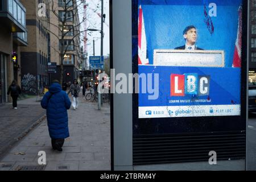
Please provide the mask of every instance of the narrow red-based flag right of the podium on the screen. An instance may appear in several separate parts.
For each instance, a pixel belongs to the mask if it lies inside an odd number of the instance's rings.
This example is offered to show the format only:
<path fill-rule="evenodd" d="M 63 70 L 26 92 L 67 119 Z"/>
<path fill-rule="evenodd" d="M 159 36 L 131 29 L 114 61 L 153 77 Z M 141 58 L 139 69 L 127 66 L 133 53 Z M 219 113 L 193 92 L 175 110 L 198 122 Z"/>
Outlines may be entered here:
<path fill-rule="evenodd" d="M 234 49 L 233 65 L 234 68 L 241 68 L 241 48 L 242 48 L 242 7 L 238 9 L 238 28 L 237 40 Z"/>

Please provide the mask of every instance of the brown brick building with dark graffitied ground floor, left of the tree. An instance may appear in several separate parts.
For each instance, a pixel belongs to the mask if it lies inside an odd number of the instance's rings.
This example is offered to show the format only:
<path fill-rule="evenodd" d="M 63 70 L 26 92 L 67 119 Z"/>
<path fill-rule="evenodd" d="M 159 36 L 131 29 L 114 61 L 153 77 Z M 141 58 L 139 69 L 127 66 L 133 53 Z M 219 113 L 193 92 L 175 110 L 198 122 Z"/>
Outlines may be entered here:
<path fill-rule="evenodd" d="M 20 0 L 27 9 L 28 46 L 20 48 L 22 60 L 22 89 L 28 94 L 40 94 L 49 84 L 47 71 L 49 58 L 49 14 L 40 12 L 40 3 L 47 0 Z M 41 13 L 41 14 L 40 14 Z"/>

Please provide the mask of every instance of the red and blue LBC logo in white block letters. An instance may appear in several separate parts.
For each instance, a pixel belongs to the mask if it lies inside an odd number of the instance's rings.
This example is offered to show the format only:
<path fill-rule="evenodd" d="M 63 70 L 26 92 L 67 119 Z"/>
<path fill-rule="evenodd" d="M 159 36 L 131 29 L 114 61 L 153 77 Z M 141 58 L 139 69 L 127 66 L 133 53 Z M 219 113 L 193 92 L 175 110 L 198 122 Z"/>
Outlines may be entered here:
<path fill-rule="evenodd" d="M 209 90 L 210 76 L 199 76 L 197 73 L 171 74 L 171 96 L 208 96 Z"/>

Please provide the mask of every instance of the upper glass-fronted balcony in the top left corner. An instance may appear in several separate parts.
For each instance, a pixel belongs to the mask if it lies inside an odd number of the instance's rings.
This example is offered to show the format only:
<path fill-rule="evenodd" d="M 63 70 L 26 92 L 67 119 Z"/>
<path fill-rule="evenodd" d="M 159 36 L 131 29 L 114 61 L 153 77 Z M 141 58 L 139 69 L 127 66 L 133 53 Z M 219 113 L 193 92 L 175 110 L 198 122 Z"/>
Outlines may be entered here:
<path fill-rule="evenodd" d="M 11 32 L 26 32 L 26 9 L 18 0 L 0 2 L 0 20 Z"/>

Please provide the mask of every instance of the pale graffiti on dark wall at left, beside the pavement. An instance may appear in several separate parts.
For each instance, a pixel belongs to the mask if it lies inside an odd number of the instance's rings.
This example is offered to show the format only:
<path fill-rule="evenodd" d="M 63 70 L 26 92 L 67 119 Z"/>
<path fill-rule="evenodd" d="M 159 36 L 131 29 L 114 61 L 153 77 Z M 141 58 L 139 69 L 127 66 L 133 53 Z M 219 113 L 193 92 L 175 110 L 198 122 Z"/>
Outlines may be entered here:
<path fill-rule="evenodd" d="M 36 94 L 36 77 L 34 75 L 24 75 L 22 78 L 22 90 L 23 92 L 29 92 Z"/>

